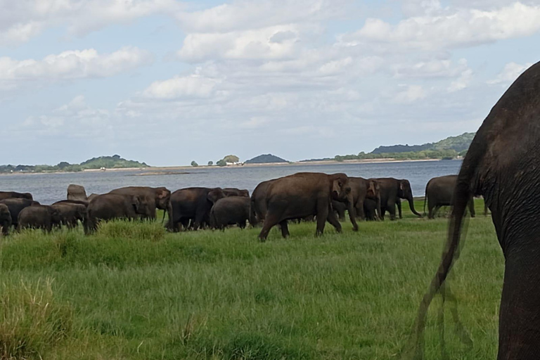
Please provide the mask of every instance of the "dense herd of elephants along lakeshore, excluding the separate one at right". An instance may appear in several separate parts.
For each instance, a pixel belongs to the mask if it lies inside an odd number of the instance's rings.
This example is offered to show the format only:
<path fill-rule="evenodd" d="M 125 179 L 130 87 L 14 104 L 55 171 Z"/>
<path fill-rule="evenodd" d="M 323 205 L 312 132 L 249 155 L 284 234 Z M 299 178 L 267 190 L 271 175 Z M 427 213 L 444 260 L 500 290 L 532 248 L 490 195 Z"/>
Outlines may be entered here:
<path fill-rule="evenodd" d="M 51 231 L 54 227 L 73 228 L 80 221 L 85 233 L 93 233 L 100 221 L 110 219 L 156 219 L 163 210 L 169 231 L 225 229 L 236 224 L 245 228 L 261 225 L 260 240 L 278 225 L 283 237 L 289 235 L 288 221 L 316 221 L 316 235 L 324 231 L 326 221 L 341 231 L 338 219 L 345 210 L 353 230 L 356 220 L 384 219 L 386 212 L 394 220 L 396 207 L 401 218 L 401 199 L 413 204 L 411 184 L 405 179 L 364 179 L 345 174 L 301 172 L 263 181 L 250 195 L 238 188 L 181 188 L 128 186 L 105 194 L 86 196 L 79 185 L 68 186 L 66 200 L 41 205 L 30 193 L 0 192 L 0 226 L 7 235 L 15 229 L 35 228 Z"/>

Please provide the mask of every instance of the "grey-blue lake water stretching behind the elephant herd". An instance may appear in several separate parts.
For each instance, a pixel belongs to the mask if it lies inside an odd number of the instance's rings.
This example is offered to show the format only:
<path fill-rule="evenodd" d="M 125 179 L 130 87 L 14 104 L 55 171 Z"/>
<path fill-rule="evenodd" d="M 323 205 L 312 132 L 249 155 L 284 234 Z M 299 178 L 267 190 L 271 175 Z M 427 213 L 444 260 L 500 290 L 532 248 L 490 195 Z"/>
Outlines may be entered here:
<path fill-rule="evenodd" d="M 165 174 L 153 169 L 136 171 L 79 172 L 73 174 L 15 174 L 0 176 L 0 191 L 32 193 L 34 200 L 51 204 L 66 198 L 69 184 L 86 188 L 86 193 L 108 193 L 122 186 L 165 186 L 171 191 L 191 186 L 247 188 L 250 193 L 261 181 L 296 172 L 344 172 L 349 176 L 409 179 L 414 196 L 422 196 L 425 184 L 434 177 L 457 174 L 461 160 L 385 162 L 378 164 L 339 163 L 330 165 L 278 165 L 261 167 L 212 167 L 174 170 Z M 148 172 L 157 173 L 141 176 Z"/>

